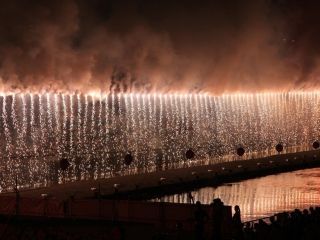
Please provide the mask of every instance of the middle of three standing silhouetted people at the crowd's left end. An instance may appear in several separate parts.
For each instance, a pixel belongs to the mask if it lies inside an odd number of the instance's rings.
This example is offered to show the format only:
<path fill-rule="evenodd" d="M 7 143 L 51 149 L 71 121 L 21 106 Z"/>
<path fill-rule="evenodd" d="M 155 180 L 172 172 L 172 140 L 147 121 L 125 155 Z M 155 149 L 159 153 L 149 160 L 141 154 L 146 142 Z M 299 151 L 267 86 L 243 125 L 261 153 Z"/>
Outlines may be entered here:
<path fill-rule="evenodd" d="M 221 239 L 221 226 L 224 218 L 224 205 L 220 198 L 216 198 L 211 203 L 212 212 L 212 239 Z"/>

